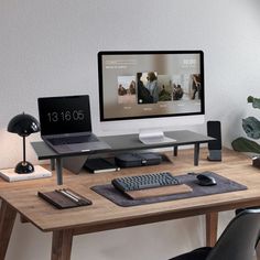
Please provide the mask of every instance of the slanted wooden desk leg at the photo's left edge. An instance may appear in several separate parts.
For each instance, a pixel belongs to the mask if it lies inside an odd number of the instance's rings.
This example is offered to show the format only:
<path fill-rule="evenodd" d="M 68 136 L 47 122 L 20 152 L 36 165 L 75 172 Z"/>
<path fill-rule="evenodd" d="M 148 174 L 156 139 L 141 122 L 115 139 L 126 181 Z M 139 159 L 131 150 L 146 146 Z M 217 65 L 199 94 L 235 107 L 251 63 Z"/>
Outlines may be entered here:
<path fill-rule="evenodd" d="M 17 210 L 2 201 L 0 212 L 0 260 L 6 258 L 15 217 Z"/>

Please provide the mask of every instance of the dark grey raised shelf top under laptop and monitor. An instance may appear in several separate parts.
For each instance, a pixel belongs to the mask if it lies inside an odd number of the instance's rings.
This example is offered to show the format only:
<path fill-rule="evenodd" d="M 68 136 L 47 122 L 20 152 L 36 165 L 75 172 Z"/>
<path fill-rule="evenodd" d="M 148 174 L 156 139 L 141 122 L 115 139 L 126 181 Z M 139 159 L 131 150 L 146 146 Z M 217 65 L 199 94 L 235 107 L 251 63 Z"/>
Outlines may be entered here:
<path fill-rule="evenodd" d="M 121 152 L 121 151 L 129 151 L 129 150 L 166 148 L 166 147 L 174 147 L 174 145 L 206 143 L 212 140 L 215 140 L 214 138 L 206 137 L 206 136 L 203 136 L 193 131 L 188 131 L 188 130 L 169 131 L 169 132 L 164 132 L 164 134 L 169 138 L 175 139 L 176 141 L 166 142 L 166 143 L 143 144 L 141 141 L 139 141 L 138 134 L 108 136 L 108 137 L 99 137 L 99 138 L 111 147 L 111 150 L 106 150 L 104 152 L 110 152 L 110 151 Z M 43 141 L 32 142 L 32 147 L 37 154 L 39 160 L 65 158 L 65 156 L 72 156 L 72 155 L 88 155 L 91 153 L 102 152 L 102 151 L 93 151 L 93 152 L 88 151 L 88 152 L 58 154 L 55 151 L 53 151 Z"/>

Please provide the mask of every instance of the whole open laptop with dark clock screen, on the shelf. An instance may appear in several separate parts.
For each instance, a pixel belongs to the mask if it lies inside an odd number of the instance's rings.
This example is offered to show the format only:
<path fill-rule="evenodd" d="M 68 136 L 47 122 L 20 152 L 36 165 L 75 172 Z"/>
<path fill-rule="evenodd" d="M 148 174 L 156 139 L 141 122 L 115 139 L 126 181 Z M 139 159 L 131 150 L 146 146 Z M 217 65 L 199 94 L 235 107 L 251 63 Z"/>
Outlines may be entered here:
<path fill-rule="evenodd" d="M 78 153 L 111 149 L 91 130 L 89 96 L 37 99 L 41 137 L 55 152 Z"/>

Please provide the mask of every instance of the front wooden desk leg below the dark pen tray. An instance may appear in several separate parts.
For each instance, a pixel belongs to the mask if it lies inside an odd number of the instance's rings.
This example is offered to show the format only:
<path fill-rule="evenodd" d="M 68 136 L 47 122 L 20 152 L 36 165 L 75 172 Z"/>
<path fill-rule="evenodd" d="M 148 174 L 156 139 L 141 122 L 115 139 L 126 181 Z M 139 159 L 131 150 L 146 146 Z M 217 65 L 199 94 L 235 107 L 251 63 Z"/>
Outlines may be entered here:
<path fill-rule="evenodd" d="M 69 260 L 72 246 L 72 229 L 53 231 L 52 260 Z"/>

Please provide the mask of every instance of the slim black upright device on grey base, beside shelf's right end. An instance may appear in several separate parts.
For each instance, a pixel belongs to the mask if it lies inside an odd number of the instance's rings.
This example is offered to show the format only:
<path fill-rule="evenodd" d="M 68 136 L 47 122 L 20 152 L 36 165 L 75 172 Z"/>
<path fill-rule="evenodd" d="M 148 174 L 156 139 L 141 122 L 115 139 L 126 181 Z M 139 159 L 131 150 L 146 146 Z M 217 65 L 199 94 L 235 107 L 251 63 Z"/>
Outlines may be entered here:
<path fill-rule="evenodd" d="M 221 161 L 221 124 L 219 121 L 207 121 L 207 136 L 216 139 L 208 142 L 208 161 Z"/>

